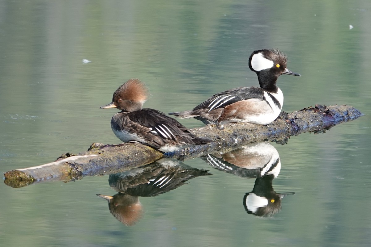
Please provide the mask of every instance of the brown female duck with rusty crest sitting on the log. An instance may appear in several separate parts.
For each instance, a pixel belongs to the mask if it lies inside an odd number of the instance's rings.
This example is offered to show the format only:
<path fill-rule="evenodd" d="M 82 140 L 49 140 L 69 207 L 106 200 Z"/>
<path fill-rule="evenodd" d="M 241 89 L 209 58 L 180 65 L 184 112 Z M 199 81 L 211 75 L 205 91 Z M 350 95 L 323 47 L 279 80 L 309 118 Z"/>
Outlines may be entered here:
<path fill-rule="evenodd" d="M 112 102 L 100 109 L 117 108 L 111 128 L 123 142 L 137 142 L 162 152 L 174 151 L 184 144 L 209 144 L 198 138 L 177 120 L 161 111 L 142 109 L 147 100 L 147 88 L 138 79 L 128 80 L 114 93 Z"/>

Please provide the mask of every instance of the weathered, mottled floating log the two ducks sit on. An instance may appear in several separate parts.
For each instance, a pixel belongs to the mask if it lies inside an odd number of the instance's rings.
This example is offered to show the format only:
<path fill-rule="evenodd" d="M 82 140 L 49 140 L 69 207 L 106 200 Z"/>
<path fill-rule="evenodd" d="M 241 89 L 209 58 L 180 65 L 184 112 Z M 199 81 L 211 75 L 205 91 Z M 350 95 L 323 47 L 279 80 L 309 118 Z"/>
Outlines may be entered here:
<path fill-rule="evenodd" d="M 340 122 L 356 119 L 362 113 L 351 106 L 316 106 L 290 114 L 281 113 L 280 117 L 267 126 L 249 123 L 225 124 L 224 129 L 215 125 L 194 128 L 197 136 L 209 138 L 215 143 L 203 146 L 189 146 L 167 157 L 186 159 L 203 154 L 215 153 L 262 140 L 285 142 L 289 136 L 303 132 L 322 131 Z M 88 151 L 78 156 L 70 154 L 56 162 L 37 167 L 8 171 L 4 174 L 5 183 L 12 187 L 22 187 L 35 181 L 49 179 L 74 180 L 82 176 L 115 173 L 123 168 L 149 164 L 164 154 L 150 147 L 127 143 L 119 145 L 92 144 Z"/>

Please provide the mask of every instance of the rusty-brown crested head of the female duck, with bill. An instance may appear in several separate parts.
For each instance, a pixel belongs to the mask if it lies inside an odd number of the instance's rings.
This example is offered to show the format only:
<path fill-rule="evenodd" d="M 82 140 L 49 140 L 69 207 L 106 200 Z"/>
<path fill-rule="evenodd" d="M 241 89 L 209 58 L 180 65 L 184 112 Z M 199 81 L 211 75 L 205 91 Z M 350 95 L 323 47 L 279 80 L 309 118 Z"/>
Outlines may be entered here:
<path fill-rule="evenodd" d="M 137 111 L 142 109 L 147 96 L 148 90 L 144 83 L 138 79 L 130 79 L 115 91 L 111 103 L 99 109 L 117 108 L 121 111 Z"/>

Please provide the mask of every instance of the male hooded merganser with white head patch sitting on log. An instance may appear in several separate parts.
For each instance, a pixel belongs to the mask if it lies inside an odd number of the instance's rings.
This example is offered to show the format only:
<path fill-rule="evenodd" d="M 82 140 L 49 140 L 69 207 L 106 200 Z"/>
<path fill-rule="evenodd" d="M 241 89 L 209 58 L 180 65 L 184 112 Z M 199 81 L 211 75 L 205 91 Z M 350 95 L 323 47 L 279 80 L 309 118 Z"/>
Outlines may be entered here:
<path fill-rule="evenodd" d="M 249 122 L 266 125 L 281 112 L 282 91 L 276 86 L 282 74 L 300 76 L 286 68 L 287 57 L 278 49 L 256 50 L 249 67 L 257 74 L 259 87 L 238 87 L 214 94 L 193 110 L 169 113 L 183 119 L 196 118 L 209 123 Z"/>

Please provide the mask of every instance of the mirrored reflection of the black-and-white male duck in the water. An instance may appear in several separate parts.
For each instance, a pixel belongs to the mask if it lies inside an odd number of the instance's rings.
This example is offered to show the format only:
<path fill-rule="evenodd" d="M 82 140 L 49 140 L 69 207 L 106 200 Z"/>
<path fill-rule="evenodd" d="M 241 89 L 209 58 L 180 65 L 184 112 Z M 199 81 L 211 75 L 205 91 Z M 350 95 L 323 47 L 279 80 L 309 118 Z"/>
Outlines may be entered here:
<path fill-rule="evenodd" d="M 243 198 L 247 213 L 271 217 L 280 211 L 281 200 L 286 194 L 276 193 L 272 187 L 273 178 L 280 172 L 281 162 L 278 151 L 271 144 L 250 144 L 228 153 L 208 155 L 206 160 L 218 170 L 256 178 L 253 190 Z"/>

